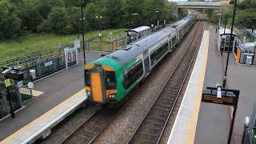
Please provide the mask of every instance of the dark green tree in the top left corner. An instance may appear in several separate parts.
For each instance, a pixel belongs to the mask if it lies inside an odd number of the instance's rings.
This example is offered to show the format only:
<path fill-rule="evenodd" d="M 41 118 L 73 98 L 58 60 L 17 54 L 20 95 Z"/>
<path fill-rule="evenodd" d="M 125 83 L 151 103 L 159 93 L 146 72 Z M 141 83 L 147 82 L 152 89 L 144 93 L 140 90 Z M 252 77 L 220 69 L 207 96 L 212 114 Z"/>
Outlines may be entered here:
<path fill-rule="evenodd" d="M 0 1 L 0 39 L 14 38 L 18 35 L 21 20 L 17 10 L 7 0 Z"/>

